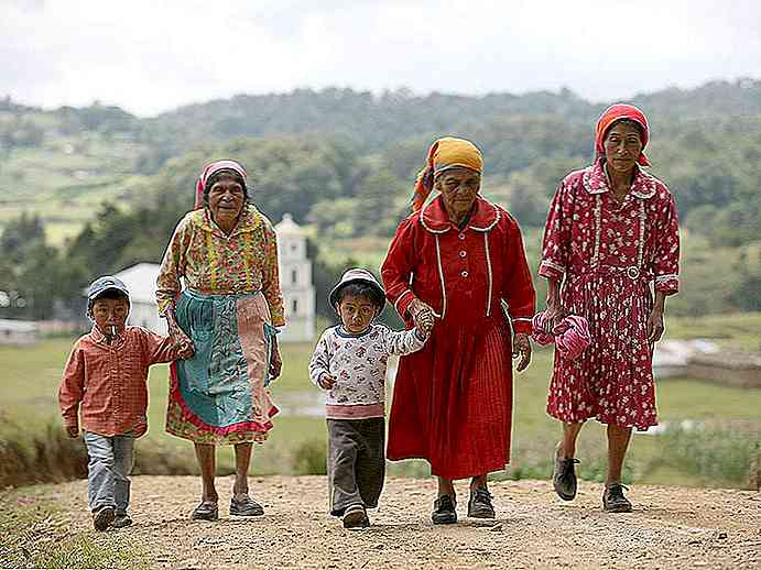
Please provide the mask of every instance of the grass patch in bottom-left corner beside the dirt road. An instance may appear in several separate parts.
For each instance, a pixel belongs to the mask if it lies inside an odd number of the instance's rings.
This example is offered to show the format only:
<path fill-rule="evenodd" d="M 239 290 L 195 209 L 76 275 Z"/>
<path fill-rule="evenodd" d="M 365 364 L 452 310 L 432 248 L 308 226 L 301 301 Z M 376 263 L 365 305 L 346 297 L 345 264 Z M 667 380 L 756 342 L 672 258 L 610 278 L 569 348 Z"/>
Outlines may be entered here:
<path fill-rule="evenodd" d="M 0 568 L 148 568 L 129 535 L 73 533 L 55 487 L 0 492 Z"/>

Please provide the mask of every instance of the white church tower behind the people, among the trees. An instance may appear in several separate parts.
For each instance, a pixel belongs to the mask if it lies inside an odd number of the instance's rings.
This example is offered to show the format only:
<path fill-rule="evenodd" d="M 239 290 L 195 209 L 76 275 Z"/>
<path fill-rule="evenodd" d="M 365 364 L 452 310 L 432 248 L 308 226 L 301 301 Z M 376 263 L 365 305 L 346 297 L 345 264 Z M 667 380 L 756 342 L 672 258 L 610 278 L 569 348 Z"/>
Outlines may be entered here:
<path fill-rule="evenodd" d="M 275 232 L 286 321 L 278 339 L 282 342 L 312 342 L 315 335 L 315 288 L 312 262 L 306 256 L 306 235 L 290 213 L 283 215 Z"/>

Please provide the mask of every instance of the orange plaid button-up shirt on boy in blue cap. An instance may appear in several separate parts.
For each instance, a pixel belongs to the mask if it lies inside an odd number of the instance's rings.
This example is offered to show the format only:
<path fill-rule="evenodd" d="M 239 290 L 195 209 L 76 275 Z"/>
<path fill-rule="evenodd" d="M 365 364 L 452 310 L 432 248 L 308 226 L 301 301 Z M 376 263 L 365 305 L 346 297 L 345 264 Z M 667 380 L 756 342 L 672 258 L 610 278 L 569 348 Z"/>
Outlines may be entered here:
<path fill-rule="evenodd" d="M 81 426 L 106 437 L 148 430 L 148 369 L 177 360 L 181 347 L 170 337 L 127 327 L 111 344 L 93 330 L 76 341 L 66 362 L 58 405 L 66 427 Z"/>

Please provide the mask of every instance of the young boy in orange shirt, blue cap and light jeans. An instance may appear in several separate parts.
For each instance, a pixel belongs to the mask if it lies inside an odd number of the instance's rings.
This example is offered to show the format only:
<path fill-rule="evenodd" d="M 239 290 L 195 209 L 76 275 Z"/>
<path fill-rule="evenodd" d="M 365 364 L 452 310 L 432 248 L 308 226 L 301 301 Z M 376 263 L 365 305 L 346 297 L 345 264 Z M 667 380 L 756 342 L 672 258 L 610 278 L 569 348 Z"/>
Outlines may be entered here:
<path fill-rule="evenodd" d="M 148 430 L 148 369 L 193 354 L 189 339 L 161 337 L 126 327 L 127 286 L 118 278 L 96 279 L 87 291 L 93 330 L 68 357 L 58 404 L 68 437 L 79 436 L 79 407 L 89 457 L 87 494 L 96 530 L 129 526 L 134 440 Z"/>

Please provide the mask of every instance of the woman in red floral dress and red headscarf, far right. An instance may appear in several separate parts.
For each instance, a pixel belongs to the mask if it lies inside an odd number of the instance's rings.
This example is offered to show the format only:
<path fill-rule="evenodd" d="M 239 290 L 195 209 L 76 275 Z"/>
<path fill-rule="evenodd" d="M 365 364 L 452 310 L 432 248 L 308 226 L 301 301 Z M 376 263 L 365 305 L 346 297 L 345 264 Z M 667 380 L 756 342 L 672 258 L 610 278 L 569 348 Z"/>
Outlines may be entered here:
<path fill-rule="evenodd" d="M 621 468 L 631 430 L 654 426 L 653 346 L 665 298 L 678 289 L 674 198 L 644 172 L 648 120 L 615 105 L 597 123 L 597 158 L 568 174 L 550 206 L 540 275 L 548 281 L 547 328 L 565 315 L 589 321 L 593 342 L 576 360 L 555 352 L 547 413 L 563 421 L 553 484 L 576 495 L 576 438 L 590 417 L 607 424 L 606 511 L 629 512 Z M 651 291 L 654 284 L 654 299 Z"/>

